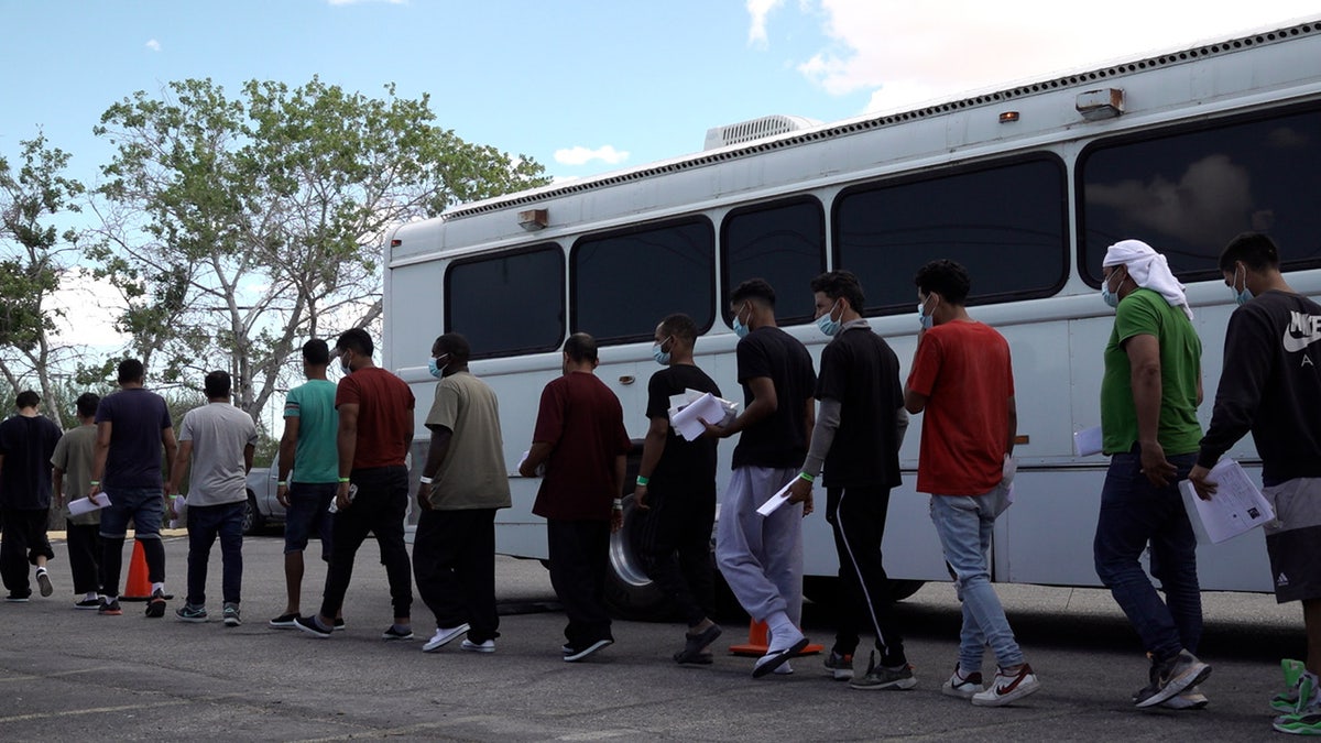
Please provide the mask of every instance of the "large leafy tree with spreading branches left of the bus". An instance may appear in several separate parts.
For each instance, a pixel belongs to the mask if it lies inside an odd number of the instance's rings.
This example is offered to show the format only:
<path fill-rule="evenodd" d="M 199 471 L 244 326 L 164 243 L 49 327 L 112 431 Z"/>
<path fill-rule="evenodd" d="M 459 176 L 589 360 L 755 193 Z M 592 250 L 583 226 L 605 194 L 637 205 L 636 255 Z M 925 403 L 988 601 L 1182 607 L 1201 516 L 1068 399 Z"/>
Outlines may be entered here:
<path fill-rule="evenodd" d="M 227 369 L 254 418 L 303 338 L 379 317 L 390 225 L 548 181 L 394 86 L 254 81 L 231 99 L 188 79 L 111 106 L 96 134 L 116 153 L 89 254 L 124 295 L 120 329 L 166 383 Z"/>

